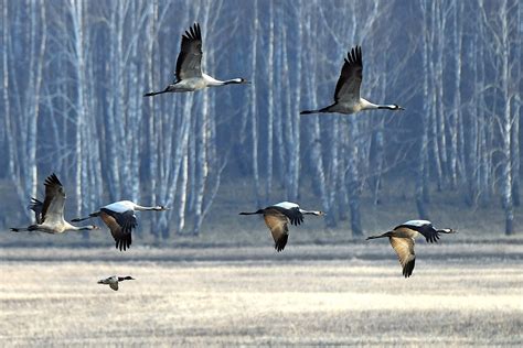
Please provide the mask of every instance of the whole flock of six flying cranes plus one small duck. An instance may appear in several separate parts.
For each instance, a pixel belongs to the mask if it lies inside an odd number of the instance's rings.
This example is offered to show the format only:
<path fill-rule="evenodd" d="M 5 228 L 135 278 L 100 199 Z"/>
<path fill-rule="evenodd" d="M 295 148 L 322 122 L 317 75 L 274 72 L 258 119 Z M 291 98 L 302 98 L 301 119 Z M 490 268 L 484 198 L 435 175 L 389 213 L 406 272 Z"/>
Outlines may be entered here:
<path fill-rule="evenodd" d="M 151 91 L 145 97 L 152 97 L 166 93 L 195 91 L 207 87 L 218 87 L 232 84 L 249 84 L 245 78 L 233 78 L 218 80 L 202 70 L 202 32 L 200 24 L 194 23 L 182 35 L 181 50 L 177 59 L 175 80 L 163 90 Z M 404 110 L 396 104 L 373 104 L 360 96 L 360 87 L 363 78 L 362 50 L 353 47 L 344 59 L 340 77 L 334 90 L 334 102 L 318 110 L 305 110 L 300 115 L 337 112 L 356 113 L 364 110 L 387 109 L 393 111 Z M 95 225 L 74 226 L 64 219 L 65 191 L 58 177 L 53 173 L 45 182 L 45 198 L 43 202 L 31 198 L 29 208 L 34 211 L 35 224 L 25 228 L 11 228 L 12 231 L 41 231 L 46 233 L 63 233 L 65 231 L 81 231 L 99 229 Z M 86 217 L 72 219 L 72 222 L 99 217 L 108 227 L 120 251 L 129 249 L 132 243 L 131 232 L 137 226 L 136 211 L 167 210 L 164 206 L 141 206 L 130 200 L 119 200 L 100 207 L 97 211 Z M 305 215 L 323 216 L 323 211 L 305 210 L 296 203 L 281 202 L 264 209 L 252 213 L 239 213 L 241 215 L 263 215 L 267 228 L 270 230 L 275 241 L 275 249 L 279 252 L 285 249 L 289 237 L 289 226 L 298 226 L 303 222 Z M 427 242 L 437 242 L 440 233 L 453 233 L 452 229 L 435 229 L 427 220 L 409 220 L 396 226 L 392 231 L 369 239 L 388 237 L 392 248 L 395 250 L 403 268 L 403 275 L 408 278 L 413 274 L 415 264 L 414 240 L 423 236 Z M 118 283 L 134 280 L 131 276 L 109 276 L 98 281 L 117 291 Z"/>

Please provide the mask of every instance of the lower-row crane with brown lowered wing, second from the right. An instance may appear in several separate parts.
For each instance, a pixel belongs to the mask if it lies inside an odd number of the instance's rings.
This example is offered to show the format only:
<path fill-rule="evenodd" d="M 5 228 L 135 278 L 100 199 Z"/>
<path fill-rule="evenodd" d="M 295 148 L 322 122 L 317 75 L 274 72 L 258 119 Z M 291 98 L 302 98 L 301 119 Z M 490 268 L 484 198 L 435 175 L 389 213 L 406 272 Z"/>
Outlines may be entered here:
<path fill-rule="evenodd" d="M 258 209 L 253 213 L 239 213 L 239 215 L 256 215 L 264 216 L 265 225 L 267 225 L 273 239 L 275 240 L 276 251 L 281 251 L 287 244 L 289 238 L 288 222 L 298 226 L 303 222 L 303 215 L 323 216 L 323 211 L 303 210 L 299 205 L 291 202 L 281 202 L 264 209 Z"/>

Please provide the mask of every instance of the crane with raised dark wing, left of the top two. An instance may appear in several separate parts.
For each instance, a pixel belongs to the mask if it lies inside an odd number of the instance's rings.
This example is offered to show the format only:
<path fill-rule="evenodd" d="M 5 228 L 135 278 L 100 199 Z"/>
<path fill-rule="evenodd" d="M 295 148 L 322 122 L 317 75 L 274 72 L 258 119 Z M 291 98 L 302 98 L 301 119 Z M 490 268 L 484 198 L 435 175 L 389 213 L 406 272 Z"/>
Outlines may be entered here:
<path fill-rule="evenodd" d="M 185 34 L 182 35 L 180 54 L 177 59 L 175 80 L 160 91 L 145 94 L 143 97 L 152 97 L 164 93 L 194 91 L 206 87 L 218 87 L 232 84 L 248 84 L 245 78 L 233 78 L 218 80 L 202 72 L 202 31 L 200 24 L 194 23 Z"/>

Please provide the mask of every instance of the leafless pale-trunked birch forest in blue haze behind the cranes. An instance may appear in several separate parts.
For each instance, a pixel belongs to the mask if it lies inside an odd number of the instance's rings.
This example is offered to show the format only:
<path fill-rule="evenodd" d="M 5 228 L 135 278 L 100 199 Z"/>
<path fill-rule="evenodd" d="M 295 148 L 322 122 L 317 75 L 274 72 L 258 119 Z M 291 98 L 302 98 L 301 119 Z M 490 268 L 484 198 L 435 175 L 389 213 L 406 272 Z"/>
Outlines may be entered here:
<path fill-rule="evenodd" d="M 140 217 L 158 240 L 206 233 L 224 188 L 237 189 L 233 217 L 313 195 L 325 226 L 354 236 L 363 204 L 398 195 L 429 218 L 435 194 L 458 193 L 446 206 L 501 205 L 511 235 L 522 12 L 517 0 L 1 0 L 0 224 L 26 224 L 55 172 L 70 216 L 118 199 L 171 207 Z M 173 79 L 193 22 L 204 68 L 253 84 L 142 98 Z M 364 95 L 406 110 L 300 117 L 331 101 L 356 44 Z"/>

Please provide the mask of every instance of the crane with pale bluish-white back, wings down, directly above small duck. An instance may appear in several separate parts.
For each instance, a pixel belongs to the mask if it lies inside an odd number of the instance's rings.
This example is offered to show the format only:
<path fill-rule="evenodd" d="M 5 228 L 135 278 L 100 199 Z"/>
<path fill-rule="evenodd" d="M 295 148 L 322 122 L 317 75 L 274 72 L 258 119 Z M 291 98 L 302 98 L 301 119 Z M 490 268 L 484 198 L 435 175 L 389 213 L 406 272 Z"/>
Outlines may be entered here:
<path fill-rule="evenodd" d="M 130 200 L 119 200 L 99 208 L 98 211 L 89 214 L 84 218 L 76 218 L 72 221 L 83 221 L 94 217 L 99 217 L 109 228 L 116 242 L 116 249 L 127 250 L 132 243 L 131 232 L 136 228 L 137 220 L 135 211 L 168 210 L 164 206 L 143 207 Z"/>

